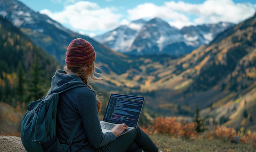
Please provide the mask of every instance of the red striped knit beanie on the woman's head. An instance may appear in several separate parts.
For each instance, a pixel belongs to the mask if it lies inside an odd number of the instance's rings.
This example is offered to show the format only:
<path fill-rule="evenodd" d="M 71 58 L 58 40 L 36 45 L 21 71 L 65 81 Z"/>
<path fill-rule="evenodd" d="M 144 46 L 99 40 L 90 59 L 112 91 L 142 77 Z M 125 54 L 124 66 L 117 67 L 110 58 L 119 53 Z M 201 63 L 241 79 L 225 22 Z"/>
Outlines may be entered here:
<path fill-rule="evenodd" d="M 90 65 L 95 59 L 96 53 L 92 44 L 84 39 L 76 38 L 67 47 L 65 62 L 69 67 Z"/>

